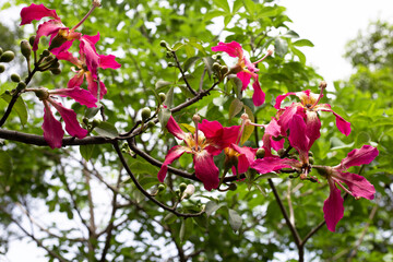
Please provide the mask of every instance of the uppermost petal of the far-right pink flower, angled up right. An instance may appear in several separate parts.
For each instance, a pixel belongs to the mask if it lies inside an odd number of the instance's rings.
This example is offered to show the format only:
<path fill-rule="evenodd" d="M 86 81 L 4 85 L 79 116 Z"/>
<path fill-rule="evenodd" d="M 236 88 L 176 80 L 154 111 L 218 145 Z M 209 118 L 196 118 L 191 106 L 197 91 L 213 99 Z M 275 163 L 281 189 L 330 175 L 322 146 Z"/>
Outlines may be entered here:
<path fill-rule="evenodd" d="M 348 153 L 347 157 L 345 157 L 341 162 L 341 166 L 343 168 L 348 168 L 352 166 L 361 166 L 370 164 L 377 156 L 379 152 L 377 147 L 372 147 L 371 145 L 364 145 L 360 150 L 353 150 Z"/>

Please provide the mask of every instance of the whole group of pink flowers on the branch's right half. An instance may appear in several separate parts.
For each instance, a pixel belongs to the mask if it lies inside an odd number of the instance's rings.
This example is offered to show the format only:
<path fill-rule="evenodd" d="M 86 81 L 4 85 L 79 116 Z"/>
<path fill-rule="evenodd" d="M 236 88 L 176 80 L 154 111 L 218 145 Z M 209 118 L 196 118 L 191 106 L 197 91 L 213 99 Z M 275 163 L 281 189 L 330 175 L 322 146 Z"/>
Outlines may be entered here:
<path fill-rule="evenodd" d="M 254 63 L 249 62 L 245 57 L 241 46 L 231 41 L 229 44 L 219 43 L 212 48 L 213 51 L 225 51 L 231 57 L 238 57 L 238 63 L 229 71 L 237 73 L 242 81 L 243 88 L 253 79 L 255 105 L 261 105 L 264 94 L 258 82 L 258 69 Z M 346 172 L 350 166 L 360 166 L 371 163 L 379 154 L 378 150 L 371 145 L 364 145 L 359 150 L 353 150 L 347 157 L 336 167 L 313 166 L 309 160 L 309 151 L 313 143 L 320 138 L 321 121 L 318 111 L 330 111 L 335 116 L 337 129 L 345 135 L 350 133 L 350 123 L 331 109 L 329 104 L 319 104 L 326 87 L 321 83 L 320 94 L 311 91 L 287 93 L 276 97 L 276 116 L 267 124 L 252 123 L 243 118 L 241 126 L 223 128 L 217 121 L 203 120 L 202 123 L 195 121 L 195 132 L 193 134 L 183 132 L 172 117 L 170 117 L 166 128 L 176 138 L 183 140 L 186 145 L 176 145 L 167 154 L 164 165 L 158 172 L 159 181 L 164 181 L 167 166 L 179 158 L 184 152 L 193 154 L 195 176 L 203 182 L 206 190 L 219 188 L 219 170 L 214 164 L 213 157 L 224 152 L 226 155 L 224 176 L 231 167 L 233 174 L 238 176 L 246 172 L 249 168 L 255 169 L 259 174 L 267 174 L 282 168 L 293 168 L 299 172 L 300 179 L 315 180 L 309 172 L 314 167 L 326 178 L 330 186 L 330 196 L 324 202 L 323 212 L 327 229 L 335 230 L 336 224 L 343 217 L 344 206 L 341 191 L 336 184 L 348 194 L 355 198 L 373 199 L 374 187 L 364 177 Z M 263 95 L 261 95 L 263 94 Z M 300 102 L 282 107 L 282 102 L 289 95 L 297 96 Z M 253 124 L 265 129 L 262 142 L 264 156 L 255 159 L 257 148 L 240 146 L 239 141 L 245 126 Z M 279 156 L 277 152 L 284 148 L 285 140 L 298 153 L 297 159 Z M 347 187 L 345 187 L 345 183 Z"/>

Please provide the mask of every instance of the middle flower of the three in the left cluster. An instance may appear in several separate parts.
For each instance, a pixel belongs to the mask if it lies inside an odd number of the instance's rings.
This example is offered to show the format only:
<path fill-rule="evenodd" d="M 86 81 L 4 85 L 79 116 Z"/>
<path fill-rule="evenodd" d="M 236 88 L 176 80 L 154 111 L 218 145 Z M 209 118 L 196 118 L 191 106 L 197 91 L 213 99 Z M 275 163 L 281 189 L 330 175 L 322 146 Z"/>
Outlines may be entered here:
<path fill-rule="evenodd" d="M 85 36 L 83 36 L 83 37 L 85 37 Z M 97 93 L 98 93 L 97 72 L 95 70 L 95 74 L 94 74 L 94 73 L 92 73 L 92 71 L 90 71 L 88 68 L 91 68 L 91 67 L 87 67 L 87 61 L 86 61 L 88 56 L 86 56 L 86 53 L 83 52 L 82 50 L 83 49 L 81 48 L 80 59 L 72 56 L 72 53 L 69 51 L 63 51 L 63 52 L 57 55 L 56 57 L 59 60 L 67 60 L 76 67 L 76 69 L 73 70 L 76 73 L 75 76 L 73 76 L 68 82 L 69 88 L 74 87 L 74 86 L 81 86 L 83 83 L 83 79 L 86 78 L 88 91 L 92 93 L 93 96 L 97 97 Z M 112 55 L 108 55 L 108 56 L 97 55 L 97 56 L 98 56 L 97 68 L 118 69 L 121 67 L 121 64 L 115 60 L 116 57 Z M 94 64 L 95 64 L 95 62 L 94 62 Z M 100 98 L 103 98 L 104 95 L 107 93 L 107 90 L 106 90 L 103 81 L 99 81 L 99 93 L 100 93 Z"/>

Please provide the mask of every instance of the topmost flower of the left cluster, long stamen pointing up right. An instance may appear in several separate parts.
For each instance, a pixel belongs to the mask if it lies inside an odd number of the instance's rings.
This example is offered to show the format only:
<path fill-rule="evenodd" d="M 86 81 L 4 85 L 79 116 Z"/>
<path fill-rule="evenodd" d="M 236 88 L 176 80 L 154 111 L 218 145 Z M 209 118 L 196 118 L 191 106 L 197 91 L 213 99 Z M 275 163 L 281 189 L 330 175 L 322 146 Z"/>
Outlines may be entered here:
<path fill-rule="evenodd" d="M 40 21 L 44 17 L 52 17 L 52 20 L 44 22 L 38 26 L 33 44 L 33 51 L 38 49 L 38 43 L 41 36 L 50 36 L 49 50 L 53 55 L 58 55 L 68 50 L 75 39 L 80 39 L 82 37 L 82 34 L 75 32 L 75 29 L 81 26 L 82 23 L 92 14 L 94 9 L 99 5 L 100 2 L 94 0 L 93 7 L 87 14 L 70 29 L 61 22 L 61 19 L 57 15 L 56 10 L 48 9 L 44 4 L 32 3 L 29 7 L 21 10 L 22 22 L 20 25 L 31 24 L 34 20 Z"/>

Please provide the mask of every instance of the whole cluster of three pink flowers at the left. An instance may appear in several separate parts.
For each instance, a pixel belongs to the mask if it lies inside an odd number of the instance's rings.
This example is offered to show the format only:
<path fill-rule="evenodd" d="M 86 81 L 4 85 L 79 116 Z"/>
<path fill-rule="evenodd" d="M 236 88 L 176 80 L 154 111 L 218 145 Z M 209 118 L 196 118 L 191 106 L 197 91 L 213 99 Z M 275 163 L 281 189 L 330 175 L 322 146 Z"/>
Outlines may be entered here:
<path fill-rule="evenodd" d="M 83 139 L 87 135 L 87 130 L 81 128 L 76 119 L 76 114 L 72 109 L 63 107 L 61 103 L 56 102 L 56 98 L 52 95 L 70 97 L 75 102 L 79 102 L 81 105 L 96 107 L 98 96 L 99 99 L 102 99 L 107 93 L 105 84 L 98 79 L 98 68 L 118 69 L 121 67 L 120 63 L 115 60 L 115 56 L 97 53 L 95 44 L 99 40 L 99 33 L 95 36 L 88 36 L 75 32 L 75 29 L 97 7 L 99 7 L 99 2 L 93 1 L 92 10 L 80 23 L 78 23 L 71 29 L 63 25 L 60 17 L 56 13 L 56 10 L 50 10 L 44 4 L 32 3 L 29 7 L 23 8 L 21 11 L 21 25 L 31 24 L 34 20 L 40 21 L 43 17 L 52 19 L 38 25 L 32 48 L 33 51 L 38 49 L 38 44 L 41 36 L 50 36 L 48 48 L 50 52 L 55 55 L 57 59 L 67 60 L 78 68 L 78 70 L 74 70 L 75 76 L 69 81 L 67 88 L 59 88 L 56 91 L 46 91 L 40 88 L 35 91 L 45 106 L 43 123 L 44 138 L 52 148 L 61 147 L 61 141 L 64 132 L 62 130 L 61 122 L 58 121 L 51 114 L 49 105 L 52 105 L 59 111 L 61 118 L 66 122 L 66 130 L 70 135 L 76 136 L 79 139 Z M 74 40 L 80 41 L 79 59 L 68 51 Z M 87 80 L 88 91 L 81 88 L 84 76 Z"/>

